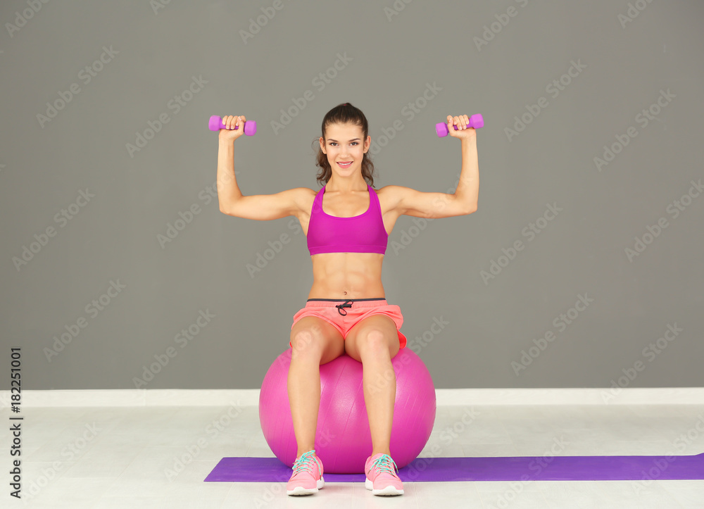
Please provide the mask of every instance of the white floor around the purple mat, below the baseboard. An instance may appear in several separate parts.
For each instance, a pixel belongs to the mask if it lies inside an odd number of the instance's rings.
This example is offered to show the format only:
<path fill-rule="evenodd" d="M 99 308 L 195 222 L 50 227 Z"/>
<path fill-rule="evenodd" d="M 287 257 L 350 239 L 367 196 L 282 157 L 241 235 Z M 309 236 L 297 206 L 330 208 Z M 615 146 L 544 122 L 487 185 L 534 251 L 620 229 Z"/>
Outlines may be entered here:
<path fill-rule="evenodd" d="M 328 483 L 289 497 L 284 483 L 203 482 L 222 457 L 272 456 L 253 406 L 45 407 L 23 416 L 22 502 L 8 495 L 9 425 L 0 431 L 4 508 L 704 508 L 704 480 L 406 482 L 397 497 Z M 0 417 L 11 422 L 7 408 Z M 442 456 L 697 454 L 703 424 L 704 406 L 693 405 L 444 406 L 420 456 L 438 447 Z M 188 451 L 194 459 L 180 467 Z"/>

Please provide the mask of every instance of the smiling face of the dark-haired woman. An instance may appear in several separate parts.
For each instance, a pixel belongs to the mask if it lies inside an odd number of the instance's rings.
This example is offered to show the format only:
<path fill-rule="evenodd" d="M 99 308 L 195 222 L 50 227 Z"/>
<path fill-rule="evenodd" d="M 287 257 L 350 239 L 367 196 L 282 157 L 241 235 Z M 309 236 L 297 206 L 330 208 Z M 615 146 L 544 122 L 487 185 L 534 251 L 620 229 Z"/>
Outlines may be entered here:
<path fill-rule="evenodd" d="M 330 124 L 325 134 L 327 139 L 320 138 L 320 149 L 327 154 L 330 168 L 341 175 L 361 172 L 362 158 L 372 137 L 363 139 L 362 128 L 354 124 Z"/>

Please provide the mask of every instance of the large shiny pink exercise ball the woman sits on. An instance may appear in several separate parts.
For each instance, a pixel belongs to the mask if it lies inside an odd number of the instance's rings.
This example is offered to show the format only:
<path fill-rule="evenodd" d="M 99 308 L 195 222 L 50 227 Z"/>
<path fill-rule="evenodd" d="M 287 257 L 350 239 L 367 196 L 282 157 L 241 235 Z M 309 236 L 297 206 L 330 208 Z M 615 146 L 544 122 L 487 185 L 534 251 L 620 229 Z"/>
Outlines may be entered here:
<path fill-rule="evenodd" d="M 291 348 L 269 367 L 259 394 L 259 421 L 272 452 L 288 467 L 296 460 L 296 435 L 287 389 Z M 396 400 L 391 425 L 391 458 L 398 468 L 415 460 L 435 423 L 435 387 L 423 361 L 402 348 L 391 365 L 396 373 Z M 325 472 L 364 473 L 372 454 L 372 437 L 364 402 L 362 363 L 344 354 L 320 366 L 320 410 L 315 454 Z"/>

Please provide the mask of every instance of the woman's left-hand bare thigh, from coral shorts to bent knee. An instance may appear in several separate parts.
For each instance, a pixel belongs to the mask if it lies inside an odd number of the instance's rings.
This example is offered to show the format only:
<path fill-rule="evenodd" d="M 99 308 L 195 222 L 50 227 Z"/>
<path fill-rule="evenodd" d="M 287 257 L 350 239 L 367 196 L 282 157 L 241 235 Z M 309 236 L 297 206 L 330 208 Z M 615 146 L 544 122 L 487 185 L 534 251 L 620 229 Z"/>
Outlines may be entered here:
<path fill-rule="evenodd" d="M 291 358 L 320 355 L 320 364 L 345 353 L 345 340 L 334 325 L 317 316 L 304 316 L 291 328 Z"/>

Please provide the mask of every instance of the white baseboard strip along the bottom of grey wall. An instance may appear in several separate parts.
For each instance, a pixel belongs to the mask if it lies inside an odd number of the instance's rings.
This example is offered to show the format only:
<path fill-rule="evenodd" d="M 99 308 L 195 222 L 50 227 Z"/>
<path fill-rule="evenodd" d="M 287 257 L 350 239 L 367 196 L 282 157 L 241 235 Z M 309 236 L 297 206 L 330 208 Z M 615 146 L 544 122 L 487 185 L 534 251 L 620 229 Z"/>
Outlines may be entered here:
<path fill-rule="evenodd" d="M 704 387 L 436 389 L 438 406 L 704 405 Z M 11 403 L 0 391 L 0 408 Z M 22 391 L 22 408 L 47 406 L 257 406 L 259 389 L 85 389 Z"/>

